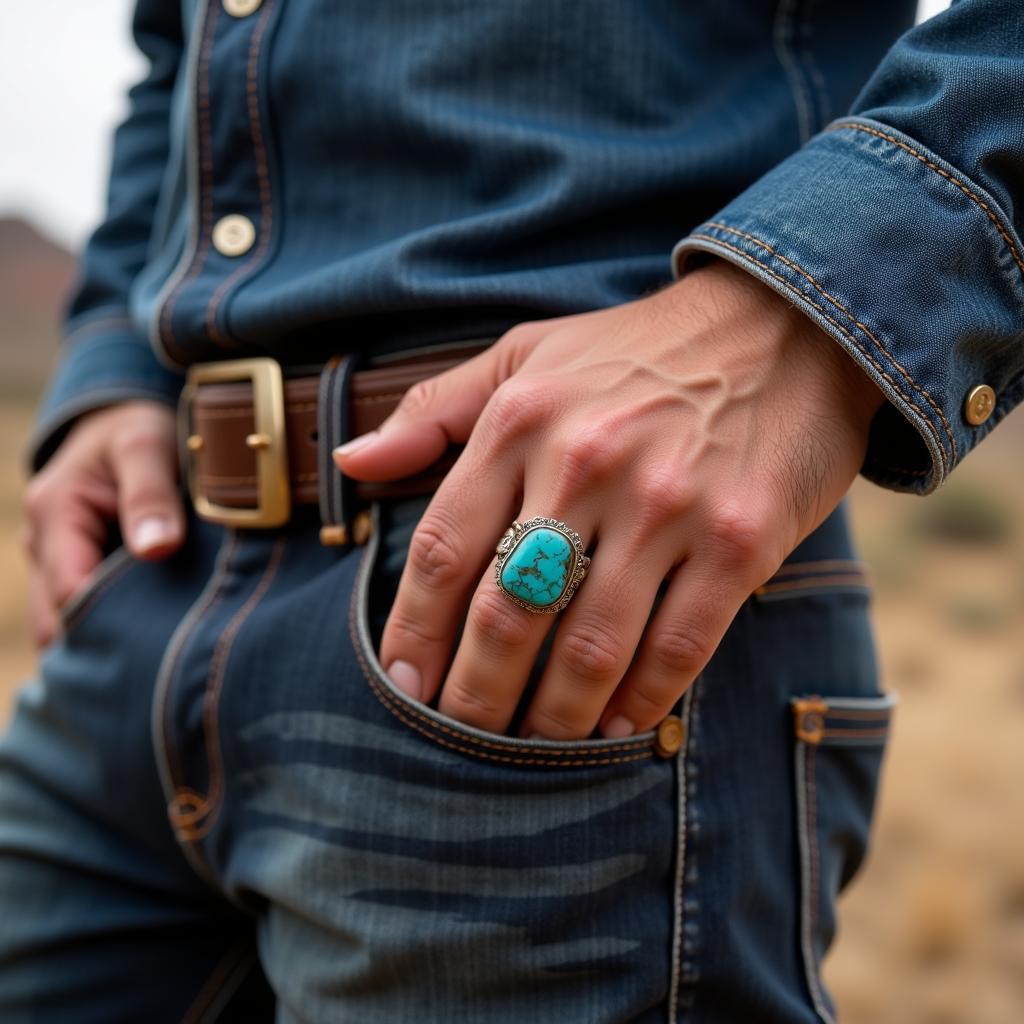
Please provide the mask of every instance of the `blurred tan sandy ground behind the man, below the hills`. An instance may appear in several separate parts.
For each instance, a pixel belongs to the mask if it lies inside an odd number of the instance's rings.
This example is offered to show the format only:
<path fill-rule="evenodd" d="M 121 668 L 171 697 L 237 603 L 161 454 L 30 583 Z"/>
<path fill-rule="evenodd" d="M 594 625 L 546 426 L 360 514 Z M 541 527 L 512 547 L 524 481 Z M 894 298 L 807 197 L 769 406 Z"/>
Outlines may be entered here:
<path fill-rule="evenodd" d="M 27 406 L 0 408 L 0 720 L 34 660 L 18 548 L 29 422 Z M 847 1024 L 1024 1020 L 1022 449 L 1018 413 L 927 501 L 855 488 L 901 700 L 873 850 L 825 966 Z"/>

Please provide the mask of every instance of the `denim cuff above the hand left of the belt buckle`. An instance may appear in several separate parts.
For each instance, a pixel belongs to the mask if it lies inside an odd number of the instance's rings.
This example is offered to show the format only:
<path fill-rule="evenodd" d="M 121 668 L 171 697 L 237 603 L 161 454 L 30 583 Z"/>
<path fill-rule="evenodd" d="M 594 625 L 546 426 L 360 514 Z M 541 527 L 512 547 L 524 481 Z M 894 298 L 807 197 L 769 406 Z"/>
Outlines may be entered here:
<path fill-rule="evenodd" d="M 61 348 L 29 437 L 32 472 L 42 468 L 84 413 L 136 398 L 173 406 L 184 380 L 157 359 L 127 316 L 91 319 L 72 330 Z"/>

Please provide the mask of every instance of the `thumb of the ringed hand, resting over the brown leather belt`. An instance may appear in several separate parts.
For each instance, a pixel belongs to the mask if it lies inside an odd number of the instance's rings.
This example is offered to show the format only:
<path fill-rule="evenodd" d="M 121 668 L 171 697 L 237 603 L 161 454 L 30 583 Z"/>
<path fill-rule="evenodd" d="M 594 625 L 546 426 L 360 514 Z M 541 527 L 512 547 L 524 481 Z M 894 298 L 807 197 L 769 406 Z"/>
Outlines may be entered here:
<path fill-rule="evenodd" d="M 359 480 L 394 480 L 426 469 L 462 444 L 498 385 L 515 372 L 523 325 L 479 355 L 414 384 L 377 430 L 334 450 L 337 467 Z M 513 338 L 513 335 L 516 336 Z"/>

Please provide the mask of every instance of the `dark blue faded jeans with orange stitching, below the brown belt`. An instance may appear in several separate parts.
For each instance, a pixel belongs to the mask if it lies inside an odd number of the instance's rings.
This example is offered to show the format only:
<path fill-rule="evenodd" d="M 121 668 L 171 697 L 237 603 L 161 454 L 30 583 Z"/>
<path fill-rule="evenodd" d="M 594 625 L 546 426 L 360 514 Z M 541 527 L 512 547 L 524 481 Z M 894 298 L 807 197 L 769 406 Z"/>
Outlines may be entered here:
<path fill-rule="evenodd" d="M 424 507 L 379 506 L 365 548 L 194 521 L 167 562 L 101 566 L 0 743 L 4 1024 L 830 1018 L 891 708 L 842 508 L 663 757 L 389 683 Z"/>

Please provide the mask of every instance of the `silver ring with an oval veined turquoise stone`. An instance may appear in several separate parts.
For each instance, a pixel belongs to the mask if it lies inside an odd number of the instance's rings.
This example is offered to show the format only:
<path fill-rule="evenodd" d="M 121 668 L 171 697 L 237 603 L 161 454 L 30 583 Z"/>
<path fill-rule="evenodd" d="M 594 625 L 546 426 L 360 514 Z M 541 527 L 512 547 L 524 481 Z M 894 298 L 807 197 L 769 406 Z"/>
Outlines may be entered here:
<path fill-rule="evenodd" d="M 561 611 L 590 568 L 580 535 L 546 516 L 513 520 L 498 542 L 496 554 L 498 589 L 527 611 Z"/>

